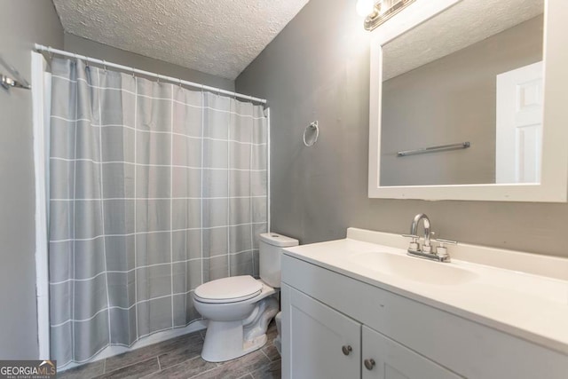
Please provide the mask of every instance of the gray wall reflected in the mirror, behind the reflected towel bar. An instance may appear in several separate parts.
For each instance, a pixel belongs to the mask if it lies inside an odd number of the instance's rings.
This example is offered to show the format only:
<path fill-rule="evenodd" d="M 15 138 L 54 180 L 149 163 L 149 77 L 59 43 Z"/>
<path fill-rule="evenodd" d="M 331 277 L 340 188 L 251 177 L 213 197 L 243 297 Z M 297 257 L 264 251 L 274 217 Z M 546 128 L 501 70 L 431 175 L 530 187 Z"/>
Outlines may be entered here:
<path fill-rule="evenodd" d="M 542 20 L 535 17 L 383 82 L 383 186 L 495 183 L 495 78 L 542 60 Z M 463 141 L 471 144 L 466 150 L 397 156 Z"/>

